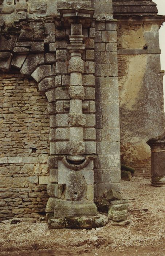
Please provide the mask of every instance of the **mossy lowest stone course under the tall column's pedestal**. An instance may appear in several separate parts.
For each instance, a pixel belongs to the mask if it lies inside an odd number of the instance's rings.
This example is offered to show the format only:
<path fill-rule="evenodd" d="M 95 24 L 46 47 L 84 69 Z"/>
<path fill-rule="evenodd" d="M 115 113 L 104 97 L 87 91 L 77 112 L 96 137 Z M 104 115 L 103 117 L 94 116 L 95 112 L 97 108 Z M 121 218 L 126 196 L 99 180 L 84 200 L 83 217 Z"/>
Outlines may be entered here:
<path fill-rule="evenodd" d="M 108 223 L 108 218 L 102 214 L 67 218 L 54 218 L 51 214 L 47 214 L 47 222 L 49 229 L 91 229 L 105 226 Z"/>

